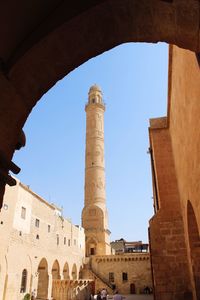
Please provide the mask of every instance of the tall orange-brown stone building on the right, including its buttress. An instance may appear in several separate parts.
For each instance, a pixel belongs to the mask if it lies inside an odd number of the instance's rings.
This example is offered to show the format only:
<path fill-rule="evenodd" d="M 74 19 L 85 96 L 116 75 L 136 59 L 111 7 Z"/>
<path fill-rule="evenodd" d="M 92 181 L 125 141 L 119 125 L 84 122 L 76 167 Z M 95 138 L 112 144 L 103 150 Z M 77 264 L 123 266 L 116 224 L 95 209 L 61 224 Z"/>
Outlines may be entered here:
<path fill-rule="evenodd" d="M 150 246 L 156 299 L 200 299 L 200 61 L 169 48 L 168 112 L 151 119 L 155 215 Z"/>

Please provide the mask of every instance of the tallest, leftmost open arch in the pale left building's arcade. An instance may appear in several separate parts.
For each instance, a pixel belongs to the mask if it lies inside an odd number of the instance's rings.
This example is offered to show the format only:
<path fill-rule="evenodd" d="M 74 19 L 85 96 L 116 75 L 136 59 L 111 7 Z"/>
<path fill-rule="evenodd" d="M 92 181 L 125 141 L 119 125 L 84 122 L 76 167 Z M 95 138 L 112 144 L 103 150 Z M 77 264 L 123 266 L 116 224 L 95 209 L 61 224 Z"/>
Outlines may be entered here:
<path fill-rule="evenodd" d="M 48 297 L 48 264 L 47 260 L 43 258 L 38 266 L 38 287 L 37 287 L 37 298 L 47 299 Z"/>

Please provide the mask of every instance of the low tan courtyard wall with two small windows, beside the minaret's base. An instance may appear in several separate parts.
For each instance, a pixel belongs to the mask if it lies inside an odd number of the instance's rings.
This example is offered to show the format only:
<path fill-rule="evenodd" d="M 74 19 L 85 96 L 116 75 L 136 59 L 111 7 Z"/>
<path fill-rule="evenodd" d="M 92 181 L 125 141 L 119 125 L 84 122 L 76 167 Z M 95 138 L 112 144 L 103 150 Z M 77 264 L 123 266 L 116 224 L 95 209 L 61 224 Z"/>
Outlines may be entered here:
<path fill-rule="evenodd" d="M 109 273 L 113 273 L 110 283 L 122 294 L 131 293 L 131 284 L 135 286 L 135 293 L 143 292 L 146 286 L 152 287 L 149 253 L 97 255 L 91 258 L 91 269 L 105 282 L 109 282 Z M 123 273 L 127 274 L 127 278 L 126 275 L 123 278 Z M 99 280 L 95 284 L 96 291 L 107 288 Z"/>

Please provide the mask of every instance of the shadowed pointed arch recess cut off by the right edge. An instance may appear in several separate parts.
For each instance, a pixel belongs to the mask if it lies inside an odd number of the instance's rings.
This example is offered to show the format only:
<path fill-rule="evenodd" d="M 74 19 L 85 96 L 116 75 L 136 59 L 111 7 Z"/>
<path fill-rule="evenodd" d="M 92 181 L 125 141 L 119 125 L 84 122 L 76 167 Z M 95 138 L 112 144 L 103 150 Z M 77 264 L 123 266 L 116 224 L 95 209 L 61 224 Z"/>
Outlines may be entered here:
<path fill-rule="evenodd" d="M 190 201 L 187 205 L 187 221 L 191 267 L 197 300 L 200 300 L 200 236 L 196 216 Z"/>

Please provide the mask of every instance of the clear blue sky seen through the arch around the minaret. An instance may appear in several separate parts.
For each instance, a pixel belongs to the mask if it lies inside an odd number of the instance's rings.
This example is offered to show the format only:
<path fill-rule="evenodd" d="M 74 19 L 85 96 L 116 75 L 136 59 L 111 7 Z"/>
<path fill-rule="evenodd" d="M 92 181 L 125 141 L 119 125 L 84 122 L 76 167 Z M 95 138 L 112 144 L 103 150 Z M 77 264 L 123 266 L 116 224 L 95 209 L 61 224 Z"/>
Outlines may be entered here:
<path fill-rule="evenodd" d="M 59 81 L 33 109 L 18 178 L 81 224 L 88 90 L 101 86 L 105 112 L 106 198 L 111 240 L 147 241 L 153 215 L 148 120 L 166 115 L 168 45 L 120 45 Z"/>

